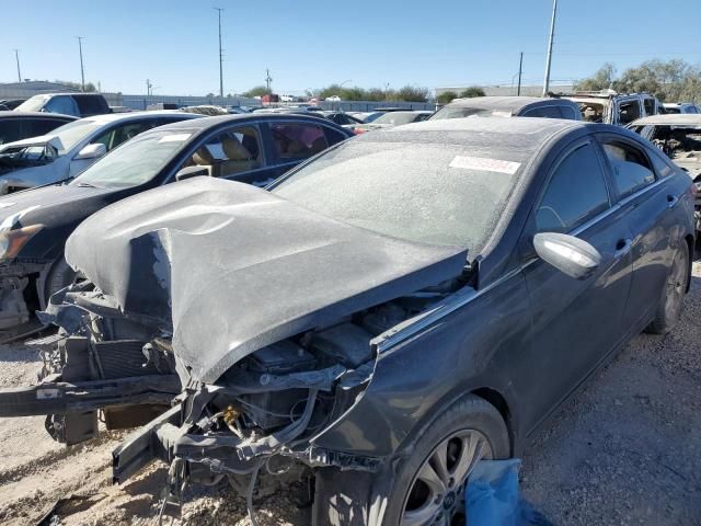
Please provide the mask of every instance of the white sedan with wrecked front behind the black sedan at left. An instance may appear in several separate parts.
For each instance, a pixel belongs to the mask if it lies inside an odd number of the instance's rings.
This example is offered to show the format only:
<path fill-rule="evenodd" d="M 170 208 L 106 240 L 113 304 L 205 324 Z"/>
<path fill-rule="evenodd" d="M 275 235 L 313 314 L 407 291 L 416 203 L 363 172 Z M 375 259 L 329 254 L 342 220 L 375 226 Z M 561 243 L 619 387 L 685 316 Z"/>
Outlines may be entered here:
<path fill-rule="evenodd" d="M 0 146 L 0 195 L 54 183 L 83 171 L 141 132 L 193 118 L 177 111 L 96 115 L 38 137 Z"/>

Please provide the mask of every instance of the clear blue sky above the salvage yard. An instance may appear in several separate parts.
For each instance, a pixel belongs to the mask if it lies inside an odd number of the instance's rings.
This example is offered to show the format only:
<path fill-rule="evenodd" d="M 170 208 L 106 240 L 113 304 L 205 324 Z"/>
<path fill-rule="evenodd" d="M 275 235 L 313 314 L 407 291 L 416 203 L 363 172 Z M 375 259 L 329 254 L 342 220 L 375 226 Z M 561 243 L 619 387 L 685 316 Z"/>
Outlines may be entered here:
<path fill-rule="evenodd" d="M 300 93 L 332 82 L 365 88 L 542 82 L 552 0 L 32 0 L 3 2 L 0 82 L 85 80 L 104 91 L 219 91 L 217 12 L 222 13 L 225 92 L 264 83 Z M 701 62 L 701 0 L 560 0 L 552 79 L 619 71 L 648 58 Z"/>

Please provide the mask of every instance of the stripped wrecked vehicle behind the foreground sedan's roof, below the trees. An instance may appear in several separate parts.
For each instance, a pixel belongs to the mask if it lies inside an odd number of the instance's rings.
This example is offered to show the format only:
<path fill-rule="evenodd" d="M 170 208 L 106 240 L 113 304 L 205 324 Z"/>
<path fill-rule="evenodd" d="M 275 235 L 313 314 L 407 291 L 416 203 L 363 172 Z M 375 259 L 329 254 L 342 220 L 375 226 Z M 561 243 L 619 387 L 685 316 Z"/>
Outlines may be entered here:
<path fill-rule="evenodd" d="M 562 95 L 562 99 L 576 102 L 587 123 L 627 126 L 637 118 L 664 112 L 662 103 L 646 93 L 621 94 L 605 90 Z"/>

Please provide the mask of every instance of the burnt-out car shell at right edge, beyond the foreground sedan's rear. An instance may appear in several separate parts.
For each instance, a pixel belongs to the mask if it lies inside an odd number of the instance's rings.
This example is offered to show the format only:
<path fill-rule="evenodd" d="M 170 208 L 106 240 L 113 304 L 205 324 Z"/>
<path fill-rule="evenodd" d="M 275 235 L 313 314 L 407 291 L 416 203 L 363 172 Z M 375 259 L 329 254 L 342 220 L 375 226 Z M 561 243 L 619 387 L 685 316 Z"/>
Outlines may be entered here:
<path fill-rule="evenodd" d="M 701 114 L 653 115 L 635 121 L 630 128 L 653 141 L 693 181 L 696 194 L 697 251 L 701 240 Z"/>

